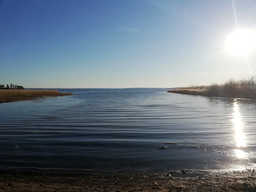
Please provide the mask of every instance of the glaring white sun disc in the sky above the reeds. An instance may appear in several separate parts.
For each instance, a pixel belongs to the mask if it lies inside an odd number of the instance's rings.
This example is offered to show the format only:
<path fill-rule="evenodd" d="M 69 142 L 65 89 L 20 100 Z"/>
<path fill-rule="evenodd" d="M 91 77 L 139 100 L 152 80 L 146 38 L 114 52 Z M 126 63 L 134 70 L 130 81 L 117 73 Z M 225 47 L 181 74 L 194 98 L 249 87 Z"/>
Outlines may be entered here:
<path fill-rule="evenodd" d="M 256 32 L 250 29 L 238 29 L 228 35 L 226 50 L 236 55 L 245 55 L 256 47 Z"/>

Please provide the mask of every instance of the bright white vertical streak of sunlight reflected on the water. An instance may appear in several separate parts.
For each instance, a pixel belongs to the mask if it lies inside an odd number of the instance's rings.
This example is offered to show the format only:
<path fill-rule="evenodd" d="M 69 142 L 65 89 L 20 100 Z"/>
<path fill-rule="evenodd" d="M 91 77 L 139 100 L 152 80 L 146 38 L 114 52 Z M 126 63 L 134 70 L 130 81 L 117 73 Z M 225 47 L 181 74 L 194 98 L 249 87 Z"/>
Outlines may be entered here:
<path fill-rule="evenodd" d="M 235 129 L 235 137 L 236 137 L 236 147 L 241 148 L 245 147 L 245 136 L 243 133 L 243 122 L 241 121 L 241 114 L 239 113 L 239 107 L 237 105 L 237 102 L 235 100 L 234 102 L 234 113 L 233 113 L 233 123 L 235 124 L 234 129 Z M 236 157 L 238 158 L 244 158 L 245 153 L 243 150 L 236 149 Z"/>

